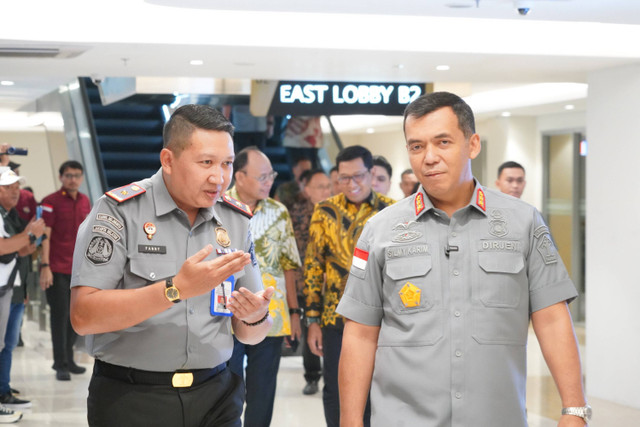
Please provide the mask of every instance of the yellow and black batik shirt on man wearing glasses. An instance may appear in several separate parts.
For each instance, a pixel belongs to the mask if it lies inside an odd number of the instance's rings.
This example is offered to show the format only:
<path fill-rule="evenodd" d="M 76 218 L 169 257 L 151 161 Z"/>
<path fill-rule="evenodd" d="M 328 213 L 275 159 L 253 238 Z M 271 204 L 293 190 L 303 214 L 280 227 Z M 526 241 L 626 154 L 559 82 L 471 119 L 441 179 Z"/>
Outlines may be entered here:
<path fill-rule="evenodd" d="M 304 294 L 305 315 L 320 317 L 321 327 L 344 326 L 336 307 L 349 277 L 353 250 L 369 218 L 393 203 L 393 199 L 372 191 L 359 208 L 342 193 L 316 205 L 304 260 Z"/>

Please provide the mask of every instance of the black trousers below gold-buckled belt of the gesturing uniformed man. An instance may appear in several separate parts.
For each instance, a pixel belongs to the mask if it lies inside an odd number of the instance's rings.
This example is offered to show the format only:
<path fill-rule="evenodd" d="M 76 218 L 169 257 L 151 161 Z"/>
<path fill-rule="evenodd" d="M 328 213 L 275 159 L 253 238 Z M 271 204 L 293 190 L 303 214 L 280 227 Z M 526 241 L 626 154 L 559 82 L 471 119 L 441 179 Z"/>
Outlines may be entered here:
<path fill-rule="evenodd" d="M 131 384 L 94 370 L 87 419 L 90 427 L 241 427 L 243 404 L 242 379 L 228 368 L 184 388 Z"/>

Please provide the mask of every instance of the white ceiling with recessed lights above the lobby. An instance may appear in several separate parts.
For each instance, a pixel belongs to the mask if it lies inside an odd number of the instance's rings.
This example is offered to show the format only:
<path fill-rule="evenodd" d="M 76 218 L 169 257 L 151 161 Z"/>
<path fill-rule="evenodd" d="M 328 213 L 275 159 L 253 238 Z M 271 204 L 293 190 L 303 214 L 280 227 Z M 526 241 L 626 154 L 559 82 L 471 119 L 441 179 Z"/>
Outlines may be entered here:
<path fill-rule="evenodd" d="M 32 0 L 3 2 L 0 112 L 76 76 L 208 77 L 455 84 L 464 95 L 640 61 L 635 0 Z M 456 6 L 456 7 L 451 7 Z M 530 6 L 527 16 L 517 7 Z M 201 59 L 203 65 L 189 62 Z M 436 71 L 446 64 L 449 71 Z M 571 101 L 518 99 L 523 114 Z M 577 108 L 584 108 L 574 97 Z M 566 101 L 566 102 L 565 102 Z M 541 105 L 549 105 L 541 109 Z M 516 108 L 516 107 L 514 107 Z M 527 110 L 527 108 L 529 108 Z M 497 110 L 496 110 L 497 111 Z M 529 111 L 529 113 L 527 113 Z"/>

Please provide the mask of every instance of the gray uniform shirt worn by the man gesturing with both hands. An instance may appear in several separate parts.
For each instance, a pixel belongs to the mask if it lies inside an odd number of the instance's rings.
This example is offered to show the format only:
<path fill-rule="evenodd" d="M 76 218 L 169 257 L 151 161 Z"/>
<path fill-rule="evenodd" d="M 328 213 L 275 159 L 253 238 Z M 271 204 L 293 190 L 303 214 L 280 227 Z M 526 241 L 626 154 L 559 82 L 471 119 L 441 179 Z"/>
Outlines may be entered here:
<path fill-rule="evenodd" d="M 251 252 L 252 262 L 235 275 L 235 288 L 263 289 L 249 234 L 249 218 L 219 202 L 200 209 L 193 226 L 171 198 L 159 171 L 122 191 L 146 189 L 121 203 L 103 196 L 78 230 L 71 286 L 133 289 L 180 270 L 207 244 L 225 249 L 216 229 L 226 230 L 226 248 Z M 151 236 L 151 239 L 149 239 Z M 135 310 L 135 307 L 131 307 Z M 125 330 L 89 335 L 87 350 L 115 365 L 149 371 L 212 368 L 231 357 L 230 317 L 211 314 L 211 293 L 189 298 Z"/>

